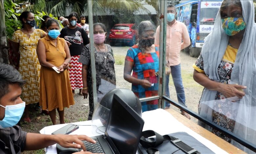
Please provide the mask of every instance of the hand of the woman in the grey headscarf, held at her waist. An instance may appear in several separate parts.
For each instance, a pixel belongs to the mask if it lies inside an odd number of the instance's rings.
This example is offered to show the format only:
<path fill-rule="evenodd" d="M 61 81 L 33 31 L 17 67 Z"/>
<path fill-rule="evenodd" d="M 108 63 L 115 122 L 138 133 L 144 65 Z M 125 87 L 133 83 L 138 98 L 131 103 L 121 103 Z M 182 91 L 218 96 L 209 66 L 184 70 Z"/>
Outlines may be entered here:
<path fill-rule="evenodd" d="M 226 98 L 235 97 L 242 98 L 245 96 L 243 89 L 246 89 L 246 86 L 236 85 L 236 84 L 222 84 L 221 89 L 218 90 Z"/>

